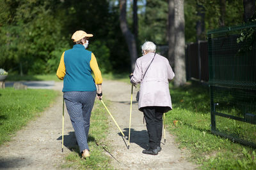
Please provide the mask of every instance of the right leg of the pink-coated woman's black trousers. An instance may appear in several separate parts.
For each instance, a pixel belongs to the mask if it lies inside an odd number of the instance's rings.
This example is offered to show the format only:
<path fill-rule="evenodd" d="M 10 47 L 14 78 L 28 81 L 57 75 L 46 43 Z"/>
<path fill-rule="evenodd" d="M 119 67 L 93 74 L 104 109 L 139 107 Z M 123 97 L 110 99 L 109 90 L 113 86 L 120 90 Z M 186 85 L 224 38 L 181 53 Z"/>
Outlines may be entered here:
<path fill-rule="evenodd" d="M 156 109 L 157 146 L 161 145 L 162 133 L 163 133 L 163 110 L 159 107 Z"/>

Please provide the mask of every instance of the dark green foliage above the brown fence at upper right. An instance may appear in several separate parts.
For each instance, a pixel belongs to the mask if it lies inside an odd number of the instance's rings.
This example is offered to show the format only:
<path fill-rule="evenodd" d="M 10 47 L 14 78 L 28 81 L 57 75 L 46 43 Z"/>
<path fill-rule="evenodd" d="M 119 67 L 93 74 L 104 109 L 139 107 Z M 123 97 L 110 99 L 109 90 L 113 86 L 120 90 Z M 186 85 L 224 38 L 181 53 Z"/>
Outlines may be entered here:
<path fill-rule="evenodd" d="M 186 41 L 196 41 L 196 21 L 199 19 L 196 14 L 196 3 L 205 9 L 205 32 L 203 33 L 206 40 L 206 32 L 220 27 L 220 0 L 185 0 L 185 36 Z M 243 1 L 227 0 L 225 6 L 225 25 L 237 25 L 243 23 Z"/>

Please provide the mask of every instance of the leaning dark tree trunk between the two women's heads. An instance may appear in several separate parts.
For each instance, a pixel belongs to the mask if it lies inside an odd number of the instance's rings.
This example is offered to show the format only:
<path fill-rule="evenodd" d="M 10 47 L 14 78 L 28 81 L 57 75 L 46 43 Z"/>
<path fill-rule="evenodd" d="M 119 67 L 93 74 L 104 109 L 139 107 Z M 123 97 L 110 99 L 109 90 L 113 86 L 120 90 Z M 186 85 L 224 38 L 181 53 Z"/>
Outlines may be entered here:
<path fill-rule="evenodd" d="M 125 41 L 127 43 L 130 58 L 131 58 L 131 71 L 134 70 L 136 59 L 138 58 L 137 48 L 136 48 L 136 40 L 134 35 L 129 30 L 126 20 L 126 0 L 119 0 L 120 6 L 120 27 L 122 33 L 124 34 Z"/>

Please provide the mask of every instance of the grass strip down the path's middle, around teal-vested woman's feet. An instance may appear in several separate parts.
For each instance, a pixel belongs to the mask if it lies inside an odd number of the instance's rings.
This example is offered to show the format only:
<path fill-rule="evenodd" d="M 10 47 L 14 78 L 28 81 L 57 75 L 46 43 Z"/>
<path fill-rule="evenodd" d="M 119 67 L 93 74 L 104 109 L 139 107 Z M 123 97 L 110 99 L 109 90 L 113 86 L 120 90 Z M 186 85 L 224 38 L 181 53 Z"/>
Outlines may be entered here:
<path fill-rule="evenodd" d="M 111 150 L 105 140 L 107 132 L 108 114 L 104 110 L 104 107 L 102 107 L 102 104 L 96 100 L 93 106 L 88 136 L 90 158 L 86 160 L 81 159 L 79 147 L 76 146 L 72 148 L 73 152 L 67 155 L 65 158 L 67 161 L 61 167 L 72 167 L 74 169 L 113 169 L 109 165 L 110 158 L 106 155 L 106 151 L 109 152 Z"/>

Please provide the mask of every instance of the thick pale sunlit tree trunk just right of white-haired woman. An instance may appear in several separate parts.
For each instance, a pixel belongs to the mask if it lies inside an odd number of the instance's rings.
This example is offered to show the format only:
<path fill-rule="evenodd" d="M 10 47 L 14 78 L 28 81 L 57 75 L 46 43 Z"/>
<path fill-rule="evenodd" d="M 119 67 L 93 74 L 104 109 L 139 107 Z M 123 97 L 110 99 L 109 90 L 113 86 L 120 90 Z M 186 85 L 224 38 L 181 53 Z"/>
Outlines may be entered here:
<path fill-rule="evenodd" d="M 174 5 L 175 5 L 174 85 L 176 87 L 179 87 L 186 83 L 184 0 L 174 0 Z"/>

